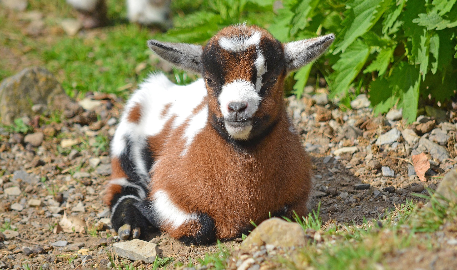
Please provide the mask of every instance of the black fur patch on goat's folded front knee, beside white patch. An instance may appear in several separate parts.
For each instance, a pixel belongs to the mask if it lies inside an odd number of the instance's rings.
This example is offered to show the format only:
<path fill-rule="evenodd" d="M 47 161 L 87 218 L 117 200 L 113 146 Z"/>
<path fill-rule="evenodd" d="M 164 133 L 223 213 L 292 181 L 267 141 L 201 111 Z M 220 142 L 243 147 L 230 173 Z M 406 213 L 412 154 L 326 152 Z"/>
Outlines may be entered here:
<path fill-rule="evenodd" d="M 186 245 L 199 245 L 209 244 L 216 241 L 216 226 L 211 216 L 207 214 L 199 214 L 198 221 L 200 222 L 201 229 L 195 235 L 188 235 L 179 238 L 180 241 Z"/>

